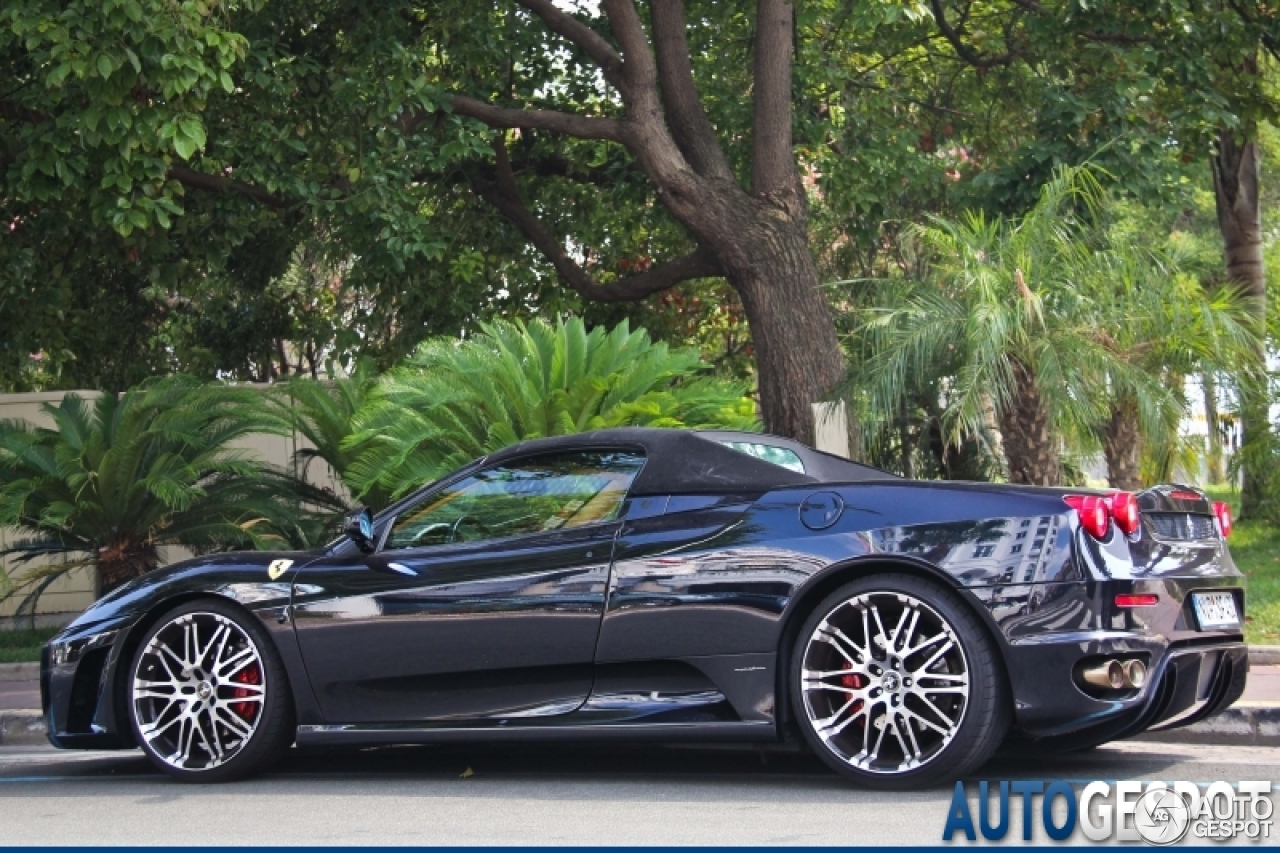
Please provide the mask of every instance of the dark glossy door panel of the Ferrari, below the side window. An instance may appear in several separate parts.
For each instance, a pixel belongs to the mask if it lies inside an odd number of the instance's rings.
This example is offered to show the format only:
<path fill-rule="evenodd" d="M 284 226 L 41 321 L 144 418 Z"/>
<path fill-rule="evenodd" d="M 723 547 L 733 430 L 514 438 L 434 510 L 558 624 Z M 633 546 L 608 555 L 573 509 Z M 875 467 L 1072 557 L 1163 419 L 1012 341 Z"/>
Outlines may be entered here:
<path fill-rule="evenodd" d="M 325 719 L 518 719 L 576 710 L 591 690 L 618 526 L 308 565 L 297 578 L 293 613 Z"/>

